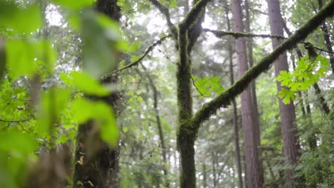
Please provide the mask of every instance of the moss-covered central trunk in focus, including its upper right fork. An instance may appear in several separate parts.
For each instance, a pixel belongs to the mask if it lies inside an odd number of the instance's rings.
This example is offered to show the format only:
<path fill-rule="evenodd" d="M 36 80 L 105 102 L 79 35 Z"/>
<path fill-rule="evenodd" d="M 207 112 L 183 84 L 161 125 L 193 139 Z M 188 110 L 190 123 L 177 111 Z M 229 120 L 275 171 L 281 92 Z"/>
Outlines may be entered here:
<path fill-rule="evenodd" d="M 178 102 L 177 145 L 181 158 L 181 188 L 196 187 L 194 144 L 198 129 L 191 122 L 191 50 L 201 33 L 201 23 L 209 0 L 193 1 L 193 8 L 178 26 L 179 63 L 176 73 Z"/>

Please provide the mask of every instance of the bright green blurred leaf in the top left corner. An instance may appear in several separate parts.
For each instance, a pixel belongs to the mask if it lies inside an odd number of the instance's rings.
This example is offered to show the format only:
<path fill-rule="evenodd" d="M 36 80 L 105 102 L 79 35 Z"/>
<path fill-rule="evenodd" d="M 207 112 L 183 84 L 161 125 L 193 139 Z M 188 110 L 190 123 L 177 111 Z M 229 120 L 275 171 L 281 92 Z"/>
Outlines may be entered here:
<path fill-rule="evenodd" d="M 41 11 L 33 4 L 20 9 L 13 1 L 0 1 L 0 27 L 12 28 L 21 33 L 30 33 L 41 28 Z"/>

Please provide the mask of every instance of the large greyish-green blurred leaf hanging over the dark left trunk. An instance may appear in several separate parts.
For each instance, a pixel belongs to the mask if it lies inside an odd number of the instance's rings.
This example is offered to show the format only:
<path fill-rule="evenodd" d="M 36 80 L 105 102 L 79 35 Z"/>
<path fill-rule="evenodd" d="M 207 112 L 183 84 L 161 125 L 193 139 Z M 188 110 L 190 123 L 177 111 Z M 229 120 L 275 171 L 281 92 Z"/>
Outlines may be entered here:
<path fill-rule="evenodd" d="M 83 12 L 81 35 L 83 41 L 83 69 L 93 78 L 109 73 L 118 63 L 118 51 L 127 49 L 119 26 L 103 14 Z"/>

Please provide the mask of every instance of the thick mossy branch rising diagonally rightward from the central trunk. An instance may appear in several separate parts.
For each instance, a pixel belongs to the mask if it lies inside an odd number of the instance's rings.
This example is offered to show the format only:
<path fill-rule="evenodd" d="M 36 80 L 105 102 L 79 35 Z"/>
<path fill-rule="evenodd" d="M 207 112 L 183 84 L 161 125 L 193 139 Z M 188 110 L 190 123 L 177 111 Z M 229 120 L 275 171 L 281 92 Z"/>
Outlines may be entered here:
<path fill-rule="evenodd" d="M 292 49 L 297 43 L 305 39 L 311 32 L 315 30 L 320 24 L 329 16 L 334 14 L 334 0 L 330 1 L 323 9 L 321 9 L 318 14 L 313 16 L 307 23 L 301 26 L 295 33 L 290 36 L 287 40 L 280 44 L 275 50 L 268 56 L 265 56 L 256 66 L 246 71 L 246 73 L 238 80 L 234 85 L 232 85 L 228 90 L 218 95 L 208 103 L 205 103 L 203 107 L 198 110 L 198 112 L 193 116 L 191 122 L 194 127 L 198 130 L 201 123 L 215 114 L 218 108 L 226 108 L 231 104 L 237 95 L 243 92 L 246 87 L 255 78 L 267 70 L 269 66 L 275 61 L 278 56 L 283 54 L 285 51 Z"/>

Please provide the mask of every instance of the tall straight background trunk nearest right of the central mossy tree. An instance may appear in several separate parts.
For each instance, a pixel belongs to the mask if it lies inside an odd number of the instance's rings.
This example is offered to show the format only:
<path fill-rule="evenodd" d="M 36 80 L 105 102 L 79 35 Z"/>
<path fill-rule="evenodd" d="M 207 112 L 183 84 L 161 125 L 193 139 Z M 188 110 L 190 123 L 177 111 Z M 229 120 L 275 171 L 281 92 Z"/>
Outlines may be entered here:
<path fill-rule="evenodd" d="M 243 20 L 241 14 L 241 2 L 232 0 L 234 31 L 243 32 Z M 238 56 L 238 74 L 241 77 L 248 70 L 246 60 L 246 43 L 243 38 L 236 39 L 236 52 Z M 258 133 L 256 132 L 255 114 L 251 90 L 248 88 L 241 93 L 241 117 L 243 124 L 243 139 L 246 155 L 246 184 L 248 188 L 263 187 L 263 172 L 260 167 L 258 152 Z"/>

